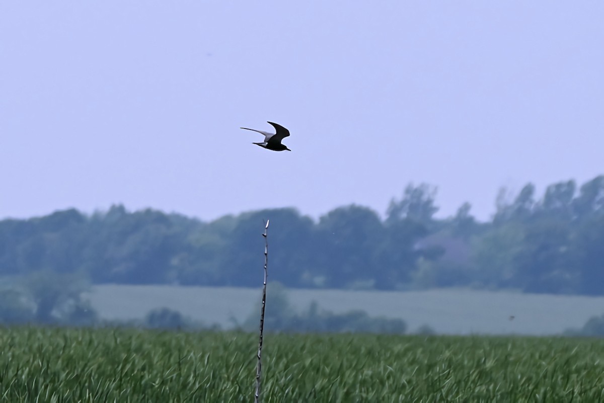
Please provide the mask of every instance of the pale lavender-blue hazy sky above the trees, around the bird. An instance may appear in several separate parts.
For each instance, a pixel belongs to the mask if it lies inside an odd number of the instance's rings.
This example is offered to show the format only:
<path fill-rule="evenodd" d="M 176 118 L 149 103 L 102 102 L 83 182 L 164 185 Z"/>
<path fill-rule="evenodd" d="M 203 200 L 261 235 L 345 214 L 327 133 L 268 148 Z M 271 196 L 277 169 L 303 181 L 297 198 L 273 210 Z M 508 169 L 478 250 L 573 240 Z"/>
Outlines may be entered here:
<path fill-rule="evenodd" d="M 604 173 L 602 1 L 4 1 L 0 217 L 210 220 Z M 293 151 L 253 141 L 278 122 Z"/>

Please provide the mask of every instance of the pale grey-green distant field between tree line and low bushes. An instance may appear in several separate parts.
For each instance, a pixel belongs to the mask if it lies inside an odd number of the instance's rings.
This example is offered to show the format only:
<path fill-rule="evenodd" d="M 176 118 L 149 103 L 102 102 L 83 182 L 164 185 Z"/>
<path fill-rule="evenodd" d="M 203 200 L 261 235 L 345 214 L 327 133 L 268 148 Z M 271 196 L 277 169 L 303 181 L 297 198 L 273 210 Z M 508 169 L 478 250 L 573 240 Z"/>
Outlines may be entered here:
<path fill-rule="evenodd" d="M 315 300 L 335 313 L 363 309 L 373 316 L 405 320 L 411 332 L 427 324 L 443 334 L 559 334 L 604 313 L 604 297 L 551 296 L 475 290 L 340 291 L 289 290 L 292 305 Z M 230 328 L 256 313 L 261 290 L 230 287 L 98 285 L 88 295 L 104 319 L 140 319 L 168 307 L 210 325 Z M 268 290 L 266 309 L 271 309 Z M 510 316 L 514 319 L 510 320 Z"/>

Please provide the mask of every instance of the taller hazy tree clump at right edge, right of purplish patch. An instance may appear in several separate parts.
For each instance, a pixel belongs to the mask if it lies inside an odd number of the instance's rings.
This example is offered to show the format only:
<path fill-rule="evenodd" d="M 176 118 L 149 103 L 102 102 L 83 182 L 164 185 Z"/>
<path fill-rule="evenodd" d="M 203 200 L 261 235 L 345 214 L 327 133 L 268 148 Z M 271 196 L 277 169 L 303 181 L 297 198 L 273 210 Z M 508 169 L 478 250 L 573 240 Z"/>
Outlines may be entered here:
<path fill-rule="evenodd" d="M 559 182 L 535 200 L 528 184 L 513 203 L 500 192 L 493 224 L 476 241 L 483 281 L 533 293 L 604 293 L 604 176 Z"/>

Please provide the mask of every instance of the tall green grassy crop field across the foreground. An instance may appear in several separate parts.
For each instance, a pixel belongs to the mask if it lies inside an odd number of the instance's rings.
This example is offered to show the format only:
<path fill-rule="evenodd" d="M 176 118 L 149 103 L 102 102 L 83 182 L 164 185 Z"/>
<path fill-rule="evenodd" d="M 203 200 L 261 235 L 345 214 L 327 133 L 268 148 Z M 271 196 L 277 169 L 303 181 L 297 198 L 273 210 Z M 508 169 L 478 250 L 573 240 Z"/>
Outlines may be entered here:
<path fill-rule="evenodd" d="M 604 341 L 265 335 L 264 402 L 602 402 Z M 0 329 L 0 401 L 252 402 L 257 335 Z"/>

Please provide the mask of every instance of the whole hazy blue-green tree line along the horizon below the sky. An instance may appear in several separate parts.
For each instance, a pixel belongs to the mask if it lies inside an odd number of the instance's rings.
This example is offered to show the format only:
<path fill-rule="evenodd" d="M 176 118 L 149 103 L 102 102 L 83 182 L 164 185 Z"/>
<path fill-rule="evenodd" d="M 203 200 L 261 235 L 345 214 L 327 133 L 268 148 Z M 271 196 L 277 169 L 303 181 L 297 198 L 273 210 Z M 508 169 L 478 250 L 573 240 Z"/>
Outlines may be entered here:
<path fill-rule="evenodd" d="M 0 276 L 78 273 L 92 284 L 257 287 L 266 218 L 269 276 L 288 288 L 513 288 L 604 294 L 604 176 L 503 189 L 477 221 L 464 203 L 435 218 L 436 188 L 405 187 L 385 218 L 342 206 L 313 220 L 294 208 L 204 222 L 161 211 L 57 211 L 0 221 Z"/>

